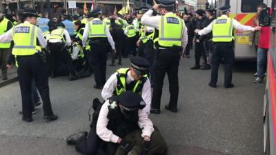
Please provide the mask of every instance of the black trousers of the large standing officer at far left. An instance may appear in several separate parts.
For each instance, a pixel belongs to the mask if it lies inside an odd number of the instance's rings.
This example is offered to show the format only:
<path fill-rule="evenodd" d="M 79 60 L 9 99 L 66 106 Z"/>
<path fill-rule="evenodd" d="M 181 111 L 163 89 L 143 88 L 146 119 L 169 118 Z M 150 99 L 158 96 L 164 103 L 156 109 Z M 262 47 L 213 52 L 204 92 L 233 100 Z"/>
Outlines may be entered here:
<path fill-rule="evenodd" d="M 43 101 L 44 115 L 52 115 L 46 63 L 39 54 L 17 56 L 18 78 L 22 97 L 23 117 L 32 118 L 32 80 L 34 79 Z"/>

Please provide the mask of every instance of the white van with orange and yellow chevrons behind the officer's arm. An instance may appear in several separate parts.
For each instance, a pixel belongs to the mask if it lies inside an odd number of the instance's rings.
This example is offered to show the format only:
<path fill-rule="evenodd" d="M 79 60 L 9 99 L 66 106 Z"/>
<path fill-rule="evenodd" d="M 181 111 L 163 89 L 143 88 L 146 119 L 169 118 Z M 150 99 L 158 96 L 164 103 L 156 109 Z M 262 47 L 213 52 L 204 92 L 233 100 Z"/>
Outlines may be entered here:
<path fill-rule="evenodd" d="M 243 25 L 253 25 L 257 15 L 257 5 L 266 3 L 271 6 L 271 0 L 218 0 L 216 8 L 230 5 L 230 17 Z M 218 14 L 219 15 L 219 14 Z M 256 61 L 257 52 L 254 45 L 249 45 L 251 32 L 235 30 L 235 59 L 237 61 Z"/>

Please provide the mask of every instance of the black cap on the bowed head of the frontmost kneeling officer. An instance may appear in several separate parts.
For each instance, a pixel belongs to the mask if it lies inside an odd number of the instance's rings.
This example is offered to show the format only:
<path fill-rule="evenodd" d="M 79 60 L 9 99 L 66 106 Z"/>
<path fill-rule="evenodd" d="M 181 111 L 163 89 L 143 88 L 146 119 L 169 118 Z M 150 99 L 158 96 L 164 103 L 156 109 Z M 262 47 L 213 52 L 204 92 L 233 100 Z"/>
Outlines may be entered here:
<path fill-rule="evenodd" d="M 133 112 L 138 108 L 142 109 L 146 106 L 141 95 L 132 91 L 122 92 L 117 96 L 117 101 L 119 101 L 121 108 L 126 112 Z"/>

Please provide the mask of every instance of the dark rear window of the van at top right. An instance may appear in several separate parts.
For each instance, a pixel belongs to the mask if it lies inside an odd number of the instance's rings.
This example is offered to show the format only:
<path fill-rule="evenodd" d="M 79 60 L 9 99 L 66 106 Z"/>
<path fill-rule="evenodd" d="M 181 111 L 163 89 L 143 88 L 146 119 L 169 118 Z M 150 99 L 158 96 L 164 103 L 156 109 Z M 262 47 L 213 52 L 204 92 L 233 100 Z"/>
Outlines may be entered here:
<path fill-rule="evenodd" d="M 264 0 L 242 0 L 242 12 L 257 12 L 257 6 L 259 3 L 263 3 Z"/>

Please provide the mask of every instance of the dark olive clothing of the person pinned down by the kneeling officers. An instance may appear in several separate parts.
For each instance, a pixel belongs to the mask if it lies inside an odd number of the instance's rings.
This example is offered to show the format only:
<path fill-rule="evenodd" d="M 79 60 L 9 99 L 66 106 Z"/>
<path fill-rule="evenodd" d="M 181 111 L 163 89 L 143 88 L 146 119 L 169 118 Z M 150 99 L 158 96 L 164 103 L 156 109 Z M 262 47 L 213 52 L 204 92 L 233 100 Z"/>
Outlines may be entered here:
<path fill-rule="evenodd" d="M 141 137 L 141 134 L 141 130 L 135 130 L 124 138 L 126 141 L 130 141 L 133 144 L 131 155 L 166 155 L 168 147 L 157 127 L 155 127 L 155 131 L 152 132 L 152 135 L 150 136 L 148 154 L 143 154 L 144 138 Z M 124 151 L 121 147 L 118 147 L 115 155 L 128 155 L 128 152 Z"/>

